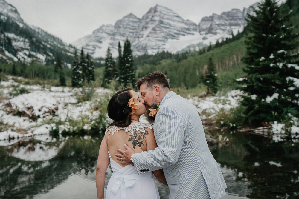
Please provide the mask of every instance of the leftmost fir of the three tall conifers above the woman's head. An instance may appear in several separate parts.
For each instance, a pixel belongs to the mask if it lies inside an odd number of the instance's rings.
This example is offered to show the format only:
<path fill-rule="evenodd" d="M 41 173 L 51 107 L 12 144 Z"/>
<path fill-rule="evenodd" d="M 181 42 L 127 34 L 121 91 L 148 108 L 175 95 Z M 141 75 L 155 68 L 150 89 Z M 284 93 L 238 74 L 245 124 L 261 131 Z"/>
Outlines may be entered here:
<path fill-rule="evenodd" d="M 112 54 L 110 52 L 109 47 L 107 49 L 104 65 L 105 65 L 105 72 L 104 72 L 102 87 L 106 87 L 106 85 L 109 84 L 112 81 L 112 79 L 116 79 L 117 77 L 117 69 L 115 67 L 115 61 L 112 58 Z"/>

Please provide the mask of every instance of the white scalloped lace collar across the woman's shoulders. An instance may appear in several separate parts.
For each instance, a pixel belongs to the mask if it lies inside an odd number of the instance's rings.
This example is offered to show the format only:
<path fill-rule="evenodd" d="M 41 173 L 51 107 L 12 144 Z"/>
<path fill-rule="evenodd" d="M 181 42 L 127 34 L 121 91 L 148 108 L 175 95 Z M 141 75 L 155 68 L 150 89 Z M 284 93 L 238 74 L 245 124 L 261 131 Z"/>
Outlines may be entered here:
<path fill-rule="evenodd" d="M 152 124 L 143 123 L 143 122 L 132 122 L 127 127 L 117 127 L 117 126 L 110 126 L 106 128 L 106 132 L 110 131 L 112 135 L 119 131 L 119 130 L 125 130 L 126 132 L 130 132 L 132 135 L 134 135 L 133 130 L 136 129 L 141 132 L 145 132 L 144 127 L 152 129 Z M 106 134 L 105 132 L 105 134 Z"/>

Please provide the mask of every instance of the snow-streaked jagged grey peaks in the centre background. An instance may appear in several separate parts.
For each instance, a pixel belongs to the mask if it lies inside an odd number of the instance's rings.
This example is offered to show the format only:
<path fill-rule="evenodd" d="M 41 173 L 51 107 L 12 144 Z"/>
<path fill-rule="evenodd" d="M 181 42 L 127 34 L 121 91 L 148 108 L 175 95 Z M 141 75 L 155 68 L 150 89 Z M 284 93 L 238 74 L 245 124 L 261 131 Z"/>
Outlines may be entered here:
<path fill-rule="evenodd" d="M 256 4 L 253 5 L 254 7 Z M 91 35 L 76 40 L 73 44 L 88 51 L 93 57 L 104 57 L 109 47 L 113 56 L 118 56 L 118 41 L 128 38 L 134 55 L 155 54 L 168 50 L 171 53 L 198 50 L 216 40 L 230 37 L 242 31 L 247 24 L 247 14 L 252 8 L 232 9 L 220 15 L 204 17 L 195 24 L 184 20 L 167 7 L 155 5 L 140 19 L 134 14 L 124 16 L 115 25 L 102 25 Z"/>

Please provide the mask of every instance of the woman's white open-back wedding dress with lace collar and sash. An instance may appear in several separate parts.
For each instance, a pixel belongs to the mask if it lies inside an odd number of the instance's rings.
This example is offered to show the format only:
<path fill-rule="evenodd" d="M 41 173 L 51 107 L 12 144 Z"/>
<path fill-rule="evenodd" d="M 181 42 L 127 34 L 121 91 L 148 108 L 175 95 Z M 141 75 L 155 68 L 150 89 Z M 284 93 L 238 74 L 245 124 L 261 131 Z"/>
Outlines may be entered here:
<path fill-rule="evenodd" d="M 109 135 L 113 135 L 118 130 L 123 129 L 134 136 L 134 129 L 144 132 L 144 127 L 152 129 L 151 124 L 132 122 L 128 127 L 108 127 L 106 132 L 110 130 Z M 122 167 L 111 158 L 110 154 L 109 158 L 113 173 L 107 185 L 106 199 L 160 199 L 152 172 L 138 175 L 134 166 Z"/>

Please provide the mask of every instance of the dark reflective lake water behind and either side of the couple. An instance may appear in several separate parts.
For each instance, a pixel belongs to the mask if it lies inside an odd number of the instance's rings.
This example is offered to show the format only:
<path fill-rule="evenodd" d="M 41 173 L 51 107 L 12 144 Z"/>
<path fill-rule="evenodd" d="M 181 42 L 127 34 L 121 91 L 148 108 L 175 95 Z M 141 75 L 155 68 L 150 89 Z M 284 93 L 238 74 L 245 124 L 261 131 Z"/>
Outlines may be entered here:
<path fill-rule="evenodd" d="M 298 143 L 242 132 L 211 133 L 229 138 L 228 145 L 209 144 L 228 186 L 222 199 L 299 198 Z M 0 198 L 96 198 L 100 142 L 101 137 L 40 135 L 0 146 Z M 106 185 L 111 175 L 108 167 Z M 168 187 L 157 186 L 161 199 L 168 198 Z"/>

